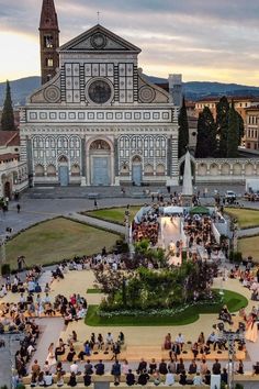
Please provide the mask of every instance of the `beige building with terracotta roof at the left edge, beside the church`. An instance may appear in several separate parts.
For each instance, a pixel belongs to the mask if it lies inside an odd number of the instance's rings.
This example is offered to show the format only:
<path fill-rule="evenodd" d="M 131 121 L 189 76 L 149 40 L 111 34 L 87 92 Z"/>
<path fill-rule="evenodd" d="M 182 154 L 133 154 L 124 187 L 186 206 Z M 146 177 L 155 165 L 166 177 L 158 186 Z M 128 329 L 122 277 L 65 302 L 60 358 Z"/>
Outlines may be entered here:
<path fill-rule="evenodd" d="M 0 197 L 12 198 L 27 187 L 27 165 L 20 162 L 18 131 L 0 131 Z"/>

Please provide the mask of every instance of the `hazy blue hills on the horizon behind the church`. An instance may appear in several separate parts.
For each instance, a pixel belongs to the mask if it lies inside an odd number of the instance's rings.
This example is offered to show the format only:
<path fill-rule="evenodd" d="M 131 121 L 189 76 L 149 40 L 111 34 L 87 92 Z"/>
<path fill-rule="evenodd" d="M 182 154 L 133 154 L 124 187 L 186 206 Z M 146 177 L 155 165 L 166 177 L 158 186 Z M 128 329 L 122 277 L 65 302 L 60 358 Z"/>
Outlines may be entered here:
<path fill-rule="evenodd" d="M 146 76 L 151 82 L 167 82 L 166 78 Z M 41 85 L 41 77 L 26 77 L 10 81 L 12 101 L 14 104 L 24 104 L 26 97 Z M 248 87 L 238 84 L 190 81 L 183 82 L 184 96 L 189 100 L 199 100 L 211 96 L 255 96 L 259 97 L 259 87 Z M 0 84 L 0 105 L 3 103 L 5 82 Z"/>

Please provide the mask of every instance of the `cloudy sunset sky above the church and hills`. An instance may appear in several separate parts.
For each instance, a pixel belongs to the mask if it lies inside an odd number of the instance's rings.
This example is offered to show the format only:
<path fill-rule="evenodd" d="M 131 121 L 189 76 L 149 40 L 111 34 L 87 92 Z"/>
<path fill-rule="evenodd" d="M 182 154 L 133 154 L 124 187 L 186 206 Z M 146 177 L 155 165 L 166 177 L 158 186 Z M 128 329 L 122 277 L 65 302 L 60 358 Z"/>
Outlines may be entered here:
<path fill-rule="evenodd" d="M 150 76 L 259 86 L 259 0 L 55 0 L 60 44 L 98 22 Z M 40 75 L 42 0 L 0 0 L 0 81 Z"/>

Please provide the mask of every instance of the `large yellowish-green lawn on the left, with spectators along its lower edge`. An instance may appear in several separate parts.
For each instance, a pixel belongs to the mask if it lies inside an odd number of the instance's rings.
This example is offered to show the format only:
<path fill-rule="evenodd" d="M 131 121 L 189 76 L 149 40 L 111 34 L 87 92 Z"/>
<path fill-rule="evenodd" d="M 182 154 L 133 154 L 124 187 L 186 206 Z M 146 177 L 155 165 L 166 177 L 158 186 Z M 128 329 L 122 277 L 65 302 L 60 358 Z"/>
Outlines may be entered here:
<path fill-rule="evenodd" d="M 7 263 L 16 268 L 19 255 L 25 256 L 27 266 L 91 255 L 103 246 L 111 249 L 117 238 L 116 234 L 58 218 L 37 224 L 8 242 Z"/>

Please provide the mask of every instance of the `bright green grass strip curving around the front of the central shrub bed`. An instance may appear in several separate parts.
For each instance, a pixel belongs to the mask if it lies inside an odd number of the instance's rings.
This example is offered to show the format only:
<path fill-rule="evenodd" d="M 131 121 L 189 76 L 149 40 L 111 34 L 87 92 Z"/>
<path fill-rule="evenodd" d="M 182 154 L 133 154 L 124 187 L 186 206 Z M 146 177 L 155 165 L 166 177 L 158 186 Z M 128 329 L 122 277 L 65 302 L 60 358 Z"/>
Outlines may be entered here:
<path fill-rule="evenodd" d="M 247 307 L 248 300 L 236 292 L 224 290 L 223 304 L 227 304 L 230 312 L 238 311 L 241 307 Z M 184 325 L 198 321 L 200 313 L 217 313 L 218 307 L 205 305 L 202 308 L 191 307 L 177 315 L 168 316 L 113 316 L 100 318 L 97 314 L 98 305 L 90 305 L 86 318 L 86 324 L 90 326 L 150 326 L 150 325 Z"/>

